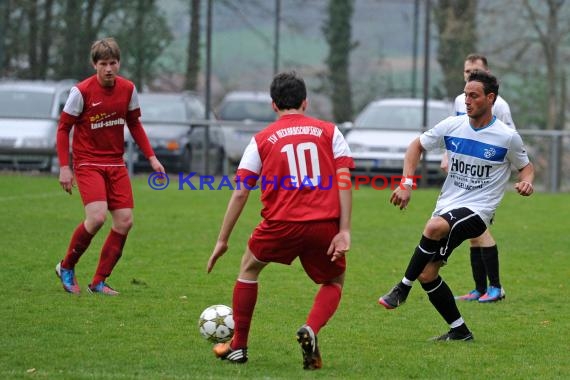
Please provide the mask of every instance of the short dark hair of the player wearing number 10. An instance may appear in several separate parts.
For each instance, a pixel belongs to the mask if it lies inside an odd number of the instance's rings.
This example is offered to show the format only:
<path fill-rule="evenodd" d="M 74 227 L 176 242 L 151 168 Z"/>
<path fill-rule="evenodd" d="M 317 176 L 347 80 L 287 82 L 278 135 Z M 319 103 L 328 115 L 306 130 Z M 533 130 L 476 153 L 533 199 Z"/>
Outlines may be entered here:
<path fill-rule="evenodd" d="M 279 110 L 299 109 L 307 99 L 305 81 L 295 71 L 275 75 L 269 91 Z"/>

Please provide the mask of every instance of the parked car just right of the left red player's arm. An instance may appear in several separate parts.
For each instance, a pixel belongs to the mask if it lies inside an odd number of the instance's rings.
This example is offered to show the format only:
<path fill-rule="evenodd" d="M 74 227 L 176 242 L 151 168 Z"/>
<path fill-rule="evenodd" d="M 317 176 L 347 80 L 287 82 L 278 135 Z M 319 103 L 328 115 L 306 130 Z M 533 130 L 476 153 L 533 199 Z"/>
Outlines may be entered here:
<path fill-rule="evenodd" d="M 205 107 L 191 93 L 140 93 L 141 121 L 157 158 L 167 172 L 200 172 L 204 168 Z M 125 129 L 128 137 L 128 129 Z M 210 133 L 210 173 L 221 173 L 221 133 Z M 135 145 L 136 147 L 136 145 Z M 127 152 L 128 154 L 128 152 Z M 129 160 L 128 156 L 126 157 Z M 139 149 L 134 150 L 135 170 L 150 170 Z"/>

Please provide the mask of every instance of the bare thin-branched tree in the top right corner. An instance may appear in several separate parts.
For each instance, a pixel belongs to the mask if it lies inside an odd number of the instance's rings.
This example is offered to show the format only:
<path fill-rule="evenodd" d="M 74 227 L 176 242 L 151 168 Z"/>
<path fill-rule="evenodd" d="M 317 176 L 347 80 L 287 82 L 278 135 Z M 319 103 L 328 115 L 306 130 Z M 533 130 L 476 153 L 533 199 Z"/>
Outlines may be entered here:
<path fill-rule="evenodd" d="M 484 4 L 484 3 L 483 3 Z M 570 59 L 570 3 L 565 0 L 489 2 L 501 15 L 480 26 L 481 43 L 493 54 L 493 71 L 507 86 L 515 123 L 521 128 L 563 129 L 567 107 L 566 62 Z M 497 38 L 499 36 L 500 38 Z"/>

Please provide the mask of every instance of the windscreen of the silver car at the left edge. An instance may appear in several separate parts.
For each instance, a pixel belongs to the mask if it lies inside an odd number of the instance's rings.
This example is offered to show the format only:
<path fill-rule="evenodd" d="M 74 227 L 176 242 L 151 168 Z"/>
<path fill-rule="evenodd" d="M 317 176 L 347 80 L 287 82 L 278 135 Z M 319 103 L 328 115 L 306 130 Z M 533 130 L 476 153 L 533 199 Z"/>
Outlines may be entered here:
<path fill-rule="evenodd" d="M 51 117 L 53 94 L 34 91 L 0 91 L 0 117 Z"/>

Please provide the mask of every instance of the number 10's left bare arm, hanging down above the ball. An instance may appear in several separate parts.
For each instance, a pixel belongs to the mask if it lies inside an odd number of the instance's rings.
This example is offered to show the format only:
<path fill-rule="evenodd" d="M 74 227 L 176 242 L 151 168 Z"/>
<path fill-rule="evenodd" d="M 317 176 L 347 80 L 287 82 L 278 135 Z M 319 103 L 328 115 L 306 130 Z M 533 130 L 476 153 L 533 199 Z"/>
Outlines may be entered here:
<path fill-rule="evenodd" d="M 216 261 L 218 261 L 218 259 L 228 250 L 228 241 L 230 240 L 232 230 L 234 229 L 234 226 L 247 203 L 248 197 L 249 190 L 245 186 L 240 186 L 240 188 L 236 188 L 232 192 L 232 197 L 230 198 L 226 214 L 224 215 L 220 234 L 218 235 L 218 241 L 216 242 L 212 255 L 210 255 L 210 259 L 208 260 L 208 266 L 206 267 L 208 273 L 212 271 Z"/>

